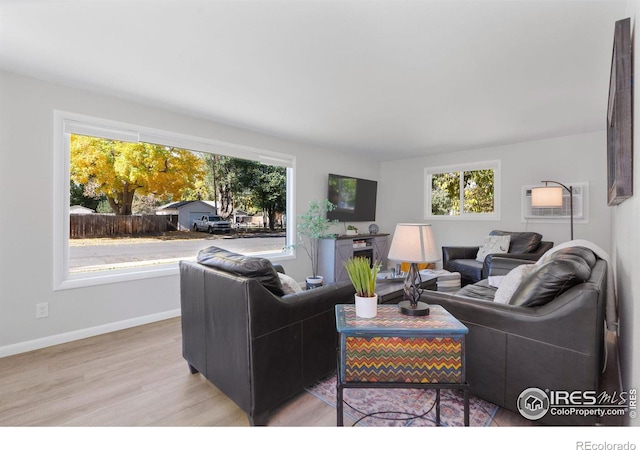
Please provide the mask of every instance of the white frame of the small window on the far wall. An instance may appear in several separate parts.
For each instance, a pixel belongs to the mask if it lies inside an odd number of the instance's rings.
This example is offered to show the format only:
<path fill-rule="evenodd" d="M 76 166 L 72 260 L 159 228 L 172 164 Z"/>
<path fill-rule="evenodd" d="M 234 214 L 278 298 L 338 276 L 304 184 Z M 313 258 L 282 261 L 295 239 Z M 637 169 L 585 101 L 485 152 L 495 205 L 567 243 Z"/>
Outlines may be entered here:
<path fill-rule="evenodd" d="M 445 216 L 432 214 L 432 175 L 438 173 L 458 172 L 473 170 L 493 170 L 493 212 L 492 213 L 465 213 L 464 212 L 464 193 L 461 190 L 461 203 L 460 214 L 457 216 Z M 424 192 L 425 192 L 425 205 L 424 205 L 424 219 L 425 220 L 500 220 L 500 205 L 501 205 L 501 161 L 480 161 L 466 164 L 456 164 L 450 166 L 437 166 L 437 167 L 425 167 L 424 168 Z"/>

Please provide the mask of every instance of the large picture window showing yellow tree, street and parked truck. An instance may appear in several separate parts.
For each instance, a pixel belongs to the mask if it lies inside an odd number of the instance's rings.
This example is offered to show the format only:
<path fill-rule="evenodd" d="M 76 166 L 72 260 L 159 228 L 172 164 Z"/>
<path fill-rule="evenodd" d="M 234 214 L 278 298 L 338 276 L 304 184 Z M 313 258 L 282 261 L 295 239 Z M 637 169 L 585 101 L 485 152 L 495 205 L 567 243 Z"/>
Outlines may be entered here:
<path fill-rule="evenodd" d="M 56 219 L 57 288 L 175 273 L 179 260 L 211 245 L 269 258 L 291 253 L 283 249 L 292 241 L 292 158 L 198 151 L 188 139 L 167 145 L 156 134 L 151 143 L 131 127 L 59 119 L 66 169 L 55 178 L 66 192 L 56 197 L 64 211 Z"/>

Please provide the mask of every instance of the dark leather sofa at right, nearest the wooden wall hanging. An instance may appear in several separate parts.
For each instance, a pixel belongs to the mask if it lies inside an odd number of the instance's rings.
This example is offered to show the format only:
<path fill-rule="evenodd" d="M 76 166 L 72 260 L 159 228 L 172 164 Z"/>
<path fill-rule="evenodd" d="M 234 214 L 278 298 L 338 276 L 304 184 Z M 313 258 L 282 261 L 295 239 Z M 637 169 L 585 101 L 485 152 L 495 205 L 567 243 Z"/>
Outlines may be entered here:
<path fill-rule="evenodd" d="M 514 412 L 518 396 L 527 388 L 599 392 L 607 263 L 582 247 L 559 250 L 544 261 L 531 268 L 507 304 L 493 301 L 497 289 L 486 279 L 455 294 L 425 291 L 421 298 L 442 305 L 469 328 L 470 392 Z M 504 275 L 512 267 L 533 263 L 496 258 L 493 266 Z M 595 421 L 547 413 L 536 423 Z"/>

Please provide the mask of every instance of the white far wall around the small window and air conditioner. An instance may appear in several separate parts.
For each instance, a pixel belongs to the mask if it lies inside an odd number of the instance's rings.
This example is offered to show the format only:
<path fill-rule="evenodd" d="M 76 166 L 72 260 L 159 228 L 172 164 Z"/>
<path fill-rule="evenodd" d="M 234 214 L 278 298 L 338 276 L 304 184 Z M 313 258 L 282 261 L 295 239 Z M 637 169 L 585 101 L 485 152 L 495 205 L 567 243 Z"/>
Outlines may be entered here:
<path fill-rule="evenodd" d="M 520 144 L 438 154 L 382 163 L 379 208 L 381 226 L 393 230 L 397 222 L 425 222 L 424 168 L 480 161 L 501 161 L 501 219 L 431 219 L 438 245 L 478 245 L 493 229 L 537 231 L 556 244 L 570 239 L 568 220 L 560 223 L 524 223 L 521 219 L 523 185 L 541 180 L 589 183 L 589 222 L 574 225 L 575 239 L 588 239 L 609 251 L 610 209 L 606 202 L 606 134 L 581 134 Z"/>

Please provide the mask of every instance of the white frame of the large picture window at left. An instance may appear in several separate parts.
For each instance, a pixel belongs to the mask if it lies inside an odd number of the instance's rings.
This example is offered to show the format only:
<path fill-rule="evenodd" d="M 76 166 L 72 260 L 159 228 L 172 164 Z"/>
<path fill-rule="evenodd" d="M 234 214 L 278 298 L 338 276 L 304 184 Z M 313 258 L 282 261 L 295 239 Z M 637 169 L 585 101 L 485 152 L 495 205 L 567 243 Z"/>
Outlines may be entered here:
<path fill-rule="evenodd" d="M 249 159 L 264 164 L 287 168 L 286 249 L 283 252 L 261 254 L 272 261 L 295 257 L 291 245 L 295 241 L 295 195 L 294 179 L 296 157 L 214 139 L 117 122 L 84 114 L 54 110 L 53 112 L 53 289 L 73 289 L 107 283 L 120 283 L 163 276 L 177 275 L 178 262 L 158 266 L 143 266 L 105 271 L 71 274 L 69 271 L 69 181 L 70 181 L 70 134 L 122 141 L 144 141 L 153 144 L 179 147 L 196 152 L 213 153 L 235 158 Z M 153 261 L 153 260 L 150 260 Z"/>

